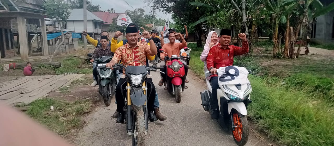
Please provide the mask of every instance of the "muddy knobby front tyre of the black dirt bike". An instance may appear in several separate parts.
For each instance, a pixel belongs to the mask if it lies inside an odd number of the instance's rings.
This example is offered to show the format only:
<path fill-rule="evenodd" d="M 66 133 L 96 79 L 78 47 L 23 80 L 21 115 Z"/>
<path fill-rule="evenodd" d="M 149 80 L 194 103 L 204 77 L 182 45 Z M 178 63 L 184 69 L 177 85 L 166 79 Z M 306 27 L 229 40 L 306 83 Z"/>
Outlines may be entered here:
<path fill-rule="evenodd" d="M 145 140 L 145 116 L 142 106 L 134 107 L 132 122 L 132 146 L 144 146 Z"/>

